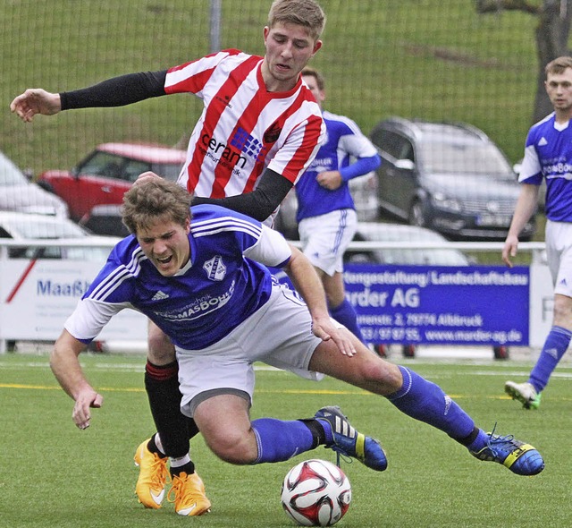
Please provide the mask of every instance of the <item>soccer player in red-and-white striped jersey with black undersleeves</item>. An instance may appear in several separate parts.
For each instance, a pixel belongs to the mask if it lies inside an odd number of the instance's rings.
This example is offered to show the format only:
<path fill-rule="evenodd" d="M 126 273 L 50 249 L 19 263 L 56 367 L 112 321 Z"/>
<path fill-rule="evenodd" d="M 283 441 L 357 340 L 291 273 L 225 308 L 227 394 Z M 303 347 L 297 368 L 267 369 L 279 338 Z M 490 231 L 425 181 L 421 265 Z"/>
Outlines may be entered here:
<path fill-rule="evenodd" d="M 272 222 L 324 137 L 320 108 L 300 79 L 301 70 L 322 47 L 324 24 L 324 11 L 315 0 L 275 0 L 263 33 L 264 56 L 226 49 L 85 89 L 27 89 L 10 107 L 30 122 L 37 114 L 192 93 L 203 100 L 204 109 L 191 133 L 179 183 L 194 193 L 193 204 L 215 202 Z M 150 321 L 145 384 L 158 434 L 143 442 L 135 455 L 136 492 L 146 507 L 161 506 L 165 455 L 170 456 L 172 474 L 194 472 L 189 436 L 197 428 L 179 411 L 177 368 L 172 343 Z"/>

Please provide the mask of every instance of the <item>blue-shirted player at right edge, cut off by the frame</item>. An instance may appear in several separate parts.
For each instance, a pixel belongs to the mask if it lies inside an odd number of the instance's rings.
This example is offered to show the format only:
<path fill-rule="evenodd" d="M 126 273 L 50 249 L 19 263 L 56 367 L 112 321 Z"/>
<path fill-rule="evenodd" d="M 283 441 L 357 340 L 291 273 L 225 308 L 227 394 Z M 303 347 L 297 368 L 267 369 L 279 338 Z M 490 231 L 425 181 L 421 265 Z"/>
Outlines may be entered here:
<path fill-rule="evenodd" d="M 552 327 L 525 383 L 507 381 L 505 391 L 526 409 L 537 409 L 552 371 L 568 350 L 572 337 L 572 57 L 546 65 L 544 82 L 554 112 L 534 124 L 526 138 L 522 183 L 517 208 L 502 250 L 512 266 L 518 234 L 534 214 L 539 186 L 546 181 L 546 253 L 554 284 Z"/>

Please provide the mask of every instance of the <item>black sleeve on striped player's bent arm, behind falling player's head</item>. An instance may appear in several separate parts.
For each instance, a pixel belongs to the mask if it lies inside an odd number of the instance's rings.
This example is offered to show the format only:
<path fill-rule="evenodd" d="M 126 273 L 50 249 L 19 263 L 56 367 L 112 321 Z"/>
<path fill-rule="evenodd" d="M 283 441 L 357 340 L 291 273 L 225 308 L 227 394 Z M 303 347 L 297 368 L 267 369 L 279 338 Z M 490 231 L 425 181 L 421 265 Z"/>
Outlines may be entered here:
<path fill-rule="evenodd" d="M 212 203 L 238 211 L 239 213 L 248 215 L 248 217 L 253 217 L 260 222 L 264 222 L 282 203 L 282 200 L 284 200 L 292 186 L 290 180 L 287 180 L 284 176 L 279 175 L 273 170 L 266 169 L 260 176 L 257 188 L 253 192 L 230 196 L 228 198 L 194 197 L 192 205 Z"/>

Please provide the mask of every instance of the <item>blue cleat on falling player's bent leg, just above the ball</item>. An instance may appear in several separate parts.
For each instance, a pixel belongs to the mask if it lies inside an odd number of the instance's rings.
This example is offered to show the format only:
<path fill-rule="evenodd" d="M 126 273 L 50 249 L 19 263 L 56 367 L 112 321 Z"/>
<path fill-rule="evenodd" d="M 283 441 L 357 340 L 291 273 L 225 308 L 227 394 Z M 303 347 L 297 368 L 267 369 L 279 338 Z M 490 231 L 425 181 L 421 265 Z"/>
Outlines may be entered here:
<path fill-rule="evenodd" d="M 323 407 L 315 413 L 314 417 L 332 426 L 333 441 L 325 447 L 342 456 L 357 458 L 359 462 L 375 471 L 383 471 L 387 468 L 387 458 L 380 443 L 376 439 L 357 432 L 341 413 L 340 407 Z"/>

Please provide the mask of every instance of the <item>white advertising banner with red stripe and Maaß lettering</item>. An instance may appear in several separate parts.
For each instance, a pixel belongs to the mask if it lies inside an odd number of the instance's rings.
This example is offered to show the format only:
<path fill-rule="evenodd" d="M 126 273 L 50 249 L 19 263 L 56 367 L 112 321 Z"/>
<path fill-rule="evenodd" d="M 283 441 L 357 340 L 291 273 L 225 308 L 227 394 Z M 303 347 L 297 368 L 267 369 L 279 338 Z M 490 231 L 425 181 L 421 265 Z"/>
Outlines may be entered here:
<path fill-rule="evenodd" d="M 102 264 L 0 260 L 0 339 L 55 340 Z M 97 339 L 145 341 L 147 318 L 138 311 L 124 310 Z"/>

